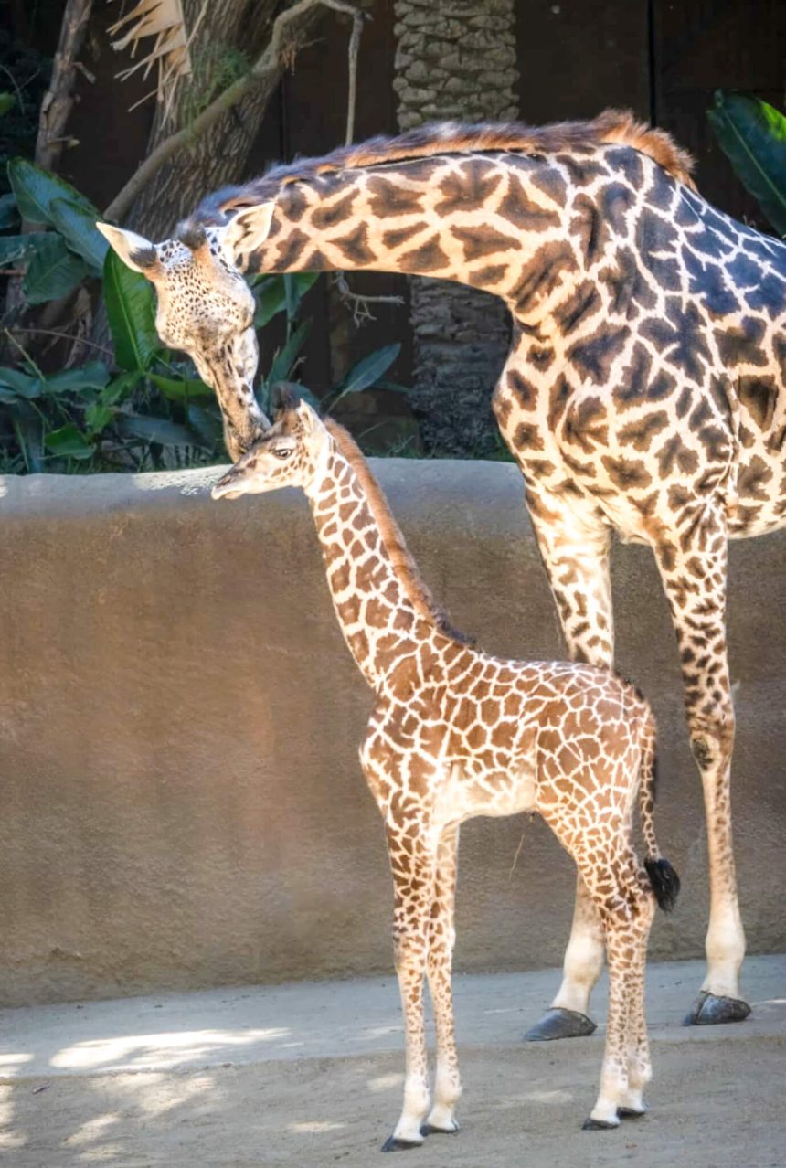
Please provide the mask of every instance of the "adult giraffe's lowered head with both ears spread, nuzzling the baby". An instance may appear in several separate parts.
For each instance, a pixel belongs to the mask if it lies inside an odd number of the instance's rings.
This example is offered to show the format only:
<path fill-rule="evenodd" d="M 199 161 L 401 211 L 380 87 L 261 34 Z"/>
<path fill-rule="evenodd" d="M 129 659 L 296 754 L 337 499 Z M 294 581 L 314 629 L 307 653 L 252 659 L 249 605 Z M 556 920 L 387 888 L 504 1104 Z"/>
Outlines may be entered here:
<path fill-rule="evenodd" d="M 124 264 L 153 284 L 161 341 L 187 353 L 215 389 L 232 460 L 270 425 L 253 395 L 259 360 L 255 303 L 236 257 L 265 238 L 272 210 L 272 203 L 244 208 L 223 227 L 189 223 L 164 243 L 96 224 Z"/>

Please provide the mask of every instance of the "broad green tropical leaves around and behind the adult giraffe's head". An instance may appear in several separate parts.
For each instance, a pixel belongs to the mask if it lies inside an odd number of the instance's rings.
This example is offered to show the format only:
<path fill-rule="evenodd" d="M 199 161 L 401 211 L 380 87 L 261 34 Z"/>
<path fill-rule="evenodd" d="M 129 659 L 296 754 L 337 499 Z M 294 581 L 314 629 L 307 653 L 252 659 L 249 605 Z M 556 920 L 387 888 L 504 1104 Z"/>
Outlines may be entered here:
<path fill-rule="evenodd" d="M 77 368 L 43 373 L 19 333 L 6 335 L 19 357 L 0 367 L 0 468 L 6 472 L 155 468 L 224 458 L 213 390 L 182 356 L 161 346 L 148 280 L 127 269 L 96 230 L 100 214 L 63 179 L 25 159 L 8 166 L 12 193 L 0 199 L 0 266 L 25 267 L 25 306 L 98 288 L 112 349 Z M 20 222 L 41 230 L 20 231 Z M 263 409 L 279 382 L 293 382 L 311 321 L 302 300 L 317 273 L 253 278 L 255 325 L 285 314 L 285 341 L 262 378 Z M 86 342 L 90 346 L 92 342 Z M 321 403 L 378 384 L 398 355 L 389 345 L 360 361 Z M 295 382 L 297 384 L 297 382 Z"/>

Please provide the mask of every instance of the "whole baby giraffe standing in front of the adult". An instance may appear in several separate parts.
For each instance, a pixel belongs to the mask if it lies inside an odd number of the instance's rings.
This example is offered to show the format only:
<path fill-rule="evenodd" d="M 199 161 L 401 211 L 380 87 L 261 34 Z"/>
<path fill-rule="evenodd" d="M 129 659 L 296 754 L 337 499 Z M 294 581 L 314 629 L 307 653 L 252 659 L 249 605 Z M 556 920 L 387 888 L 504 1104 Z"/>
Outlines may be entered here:
<path fill-rule="evenodd" d="M 537 812 L 576 861 L 603 918 L 610 978 L 600 1093 L 584 1126 L 641 1114 L 647 936 L 655 901 L 670 909 L 680 888 L 655 841 L 649 707 L 594 666 L 507 661 L 471 647 L 419 578 L 353 439 L 291 397 L 213 496 L 279 487 L 306 493 L 339 623 L 376 698 L 360 758 L 392 868 L 406 1041 L 404 1106 L 383 1152 L 458 1131 L 453 904 L 459 825 L 474 815 Z M 637 794 L 644 868 L 632 842 Z M 424 973 L 437 1029 L 431 1110 Z"/>

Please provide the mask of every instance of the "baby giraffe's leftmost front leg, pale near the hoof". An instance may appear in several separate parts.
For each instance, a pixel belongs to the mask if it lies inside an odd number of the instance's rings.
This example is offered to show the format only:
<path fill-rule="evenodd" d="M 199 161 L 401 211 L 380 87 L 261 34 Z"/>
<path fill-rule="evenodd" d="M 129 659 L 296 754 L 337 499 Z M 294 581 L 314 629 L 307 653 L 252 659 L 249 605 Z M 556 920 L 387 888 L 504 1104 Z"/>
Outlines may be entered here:
<path fill-rule="evenodd" d="M 402 1152 L 423 1143 L 429 1112 L 423 982 L 429 952 L 429 918 L 433 902 L 436 855 L 422 836 L 412 839 L 388 826 L 388 850 L 394 875 L 394 945 L 396 974 L 404 1013 L 406 1071 L 404 1107 L 383 1152 Z"/>

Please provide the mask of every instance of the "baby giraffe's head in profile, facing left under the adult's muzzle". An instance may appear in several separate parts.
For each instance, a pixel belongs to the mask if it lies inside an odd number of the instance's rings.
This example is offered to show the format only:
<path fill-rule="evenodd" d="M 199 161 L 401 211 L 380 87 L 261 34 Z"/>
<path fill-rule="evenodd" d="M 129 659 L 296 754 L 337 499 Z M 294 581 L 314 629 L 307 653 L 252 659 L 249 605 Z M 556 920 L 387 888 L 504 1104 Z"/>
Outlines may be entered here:
<path fill-rule="evenodd" d="M 281 395 L 272 426 L 213 488 L 214 499 L 239 499 L 279 487 L 307 489 L 318 477 L 331 437 L 315 410 Z"/>

